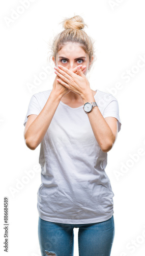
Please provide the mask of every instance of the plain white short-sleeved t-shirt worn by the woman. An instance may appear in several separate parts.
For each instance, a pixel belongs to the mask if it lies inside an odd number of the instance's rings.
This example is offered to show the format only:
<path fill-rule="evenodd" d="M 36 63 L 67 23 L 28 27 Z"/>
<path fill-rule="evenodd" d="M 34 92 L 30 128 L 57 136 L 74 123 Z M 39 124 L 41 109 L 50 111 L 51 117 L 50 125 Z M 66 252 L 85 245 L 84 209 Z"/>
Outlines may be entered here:
<path fill-rule="evenodd" d="M 39 115 L 51 90 L 36 93 L 27 116 Z M 118 119 L 118 101 L 96 90 L 95 101 L 103 117 Z M 39 163 L 41 182 L 37 193 L 41 219 L 67 224 L 88 224 L 108 220 L 113 215 L 113 192 L 105 173 L 107 153 L 97 143 L 83 105 L 71 108 L 60 101 L 41 141 Z"/>

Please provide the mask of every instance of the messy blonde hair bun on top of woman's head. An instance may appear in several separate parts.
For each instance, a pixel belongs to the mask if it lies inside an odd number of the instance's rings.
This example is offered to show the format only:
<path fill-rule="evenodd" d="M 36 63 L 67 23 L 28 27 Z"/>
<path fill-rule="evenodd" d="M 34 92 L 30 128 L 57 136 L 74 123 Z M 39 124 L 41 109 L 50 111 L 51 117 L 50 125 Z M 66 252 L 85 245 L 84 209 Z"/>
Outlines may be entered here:
<path fill-rule="evenodd" d="M 62 23 L 63 23 L 64 29 L 83 29 L 84 26 L 88 27 L 83 22 L 83 18 L 79 15 L 76 15 L 71 18 L 65 18 Z"/>

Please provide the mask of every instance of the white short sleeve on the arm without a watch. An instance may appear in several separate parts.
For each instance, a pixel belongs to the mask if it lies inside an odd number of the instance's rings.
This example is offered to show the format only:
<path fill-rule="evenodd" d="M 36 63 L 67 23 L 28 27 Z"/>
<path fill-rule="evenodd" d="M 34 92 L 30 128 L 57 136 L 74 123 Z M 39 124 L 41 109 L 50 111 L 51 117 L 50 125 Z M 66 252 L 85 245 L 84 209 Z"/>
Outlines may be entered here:
<path fill-rule="evenodd" d="M 26 121 L 27 121 L 27 117 L 29 115 L 32 115 L 32 114 L 35 114 L 35 115 L 39 115 L 39 113 L 41 112 L 41 107 L 40 107 L 40 104 L 36 98 L 35 95 L 33 95 L 31 97 L 31 100 L 30 100 L 30 103 L 28 105 L 28 109 L 27 109 L 27 113 L 26 113 L 26 116 L 25 116 L 25 119 L 24 119 L 24 123 L 23 125 L 25 126 L 26 124 Z"/>

